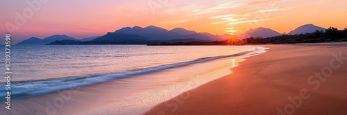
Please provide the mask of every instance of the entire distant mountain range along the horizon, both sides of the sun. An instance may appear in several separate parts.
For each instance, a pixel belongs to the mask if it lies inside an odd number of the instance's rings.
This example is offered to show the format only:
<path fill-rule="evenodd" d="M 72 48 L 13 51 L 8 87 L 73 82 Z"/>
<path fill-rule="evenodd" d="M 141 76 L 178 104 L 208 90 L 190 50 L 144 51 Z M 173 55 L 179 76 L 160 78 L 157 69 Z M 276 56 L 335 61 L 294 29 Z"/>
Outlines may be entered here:
<path fill-rule="evenodd" d="M 301 33 L 312 33 L 315 30 L 325 30 L 319 26 L 313 24 L 307 24 L 292 30 L 289 35 L 301 34 Z M 275 30 L 270 28 L 255 28 L 248 30 L 242 35 L 234 36 L 241 39 L 248 37 L 273 37 L 282 35 Z M 67 35 L 53 35 L 44 39 L 37 37 L 31 37 L 17 45 L 44 45 L 55 42 L 53 44 L 64 44 L 64 43 L 78 43 L 78 44 L 89 44 L 96 42 L 112 42 L 112 44 L 148 44 L 148 43 L 159 43 L 159 42 L 193 42 L 193 41 L 222 41 L 233 37 L 232 35 L 212 35 L 211 33 L 197 33 L 194 30 L 187 30 L 185 28 L 174 28 L 172 30 L 166 30 L 164 28 L 156 26 L 147 26 L 142 28 L 134 26 L 133 28 L 125 27 L 115 32 L 108 32 L 103 36 L 87 37 L 84 39 L 75 39 Z M 64 40 L 64 42 L 56 42 Z"/>

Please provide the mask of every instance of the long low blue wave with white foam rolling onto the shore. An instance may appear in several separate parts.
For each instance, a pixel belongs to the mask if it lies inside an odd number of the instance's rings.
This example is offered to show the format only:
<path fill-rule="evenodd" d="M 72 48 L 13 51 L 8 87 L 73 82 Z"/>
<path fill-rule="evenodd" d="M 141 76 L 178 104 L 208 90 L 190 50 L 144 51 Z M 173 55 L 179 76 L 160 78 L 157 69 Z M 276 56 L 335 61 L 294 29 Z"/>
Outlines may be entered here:
<path fill-rule="evenodd" d="M 221 55 L 216 57 L 203 57 L 188 62 L 179 62 L 175 64 L 166 64 L 158 67 L 150 67 L 146 69 L 135 69 L 131 71 L 124 71 L 119 73 L 101 73 L 88 76 L 74 76 L 68 78 L 55 78 L 46 80 L 31 80 L 31 81 L 19 81 L 11 83 L 11 96 L 13 98 L 28 98 L 31 96 L 39 96 L 43 94 L 49 94 L 54 91 L 60 91 L 63 89 L 73 89 L 75 87 L 83 87 L 87 85 L 95 85 L 109 80 L 115 80 L 120 78 L 129 78 L 144 73 L 151 73 L 155 71 L 162 71 L 165 69 L 171 69 L 175 67 L 183 67 L 189 64 L 196 64 L 199 62 L 207 62 L 211 60 L 217 60 L 226 57 L 235 57 L 245 54 L 253 54 L 255 51 L 260 51 L 260 48 L 255 48 L 254 51 L 246 51 L 242 53 L 236 53 L 232 55 Z M 5 87 L 5 83 L 1 83 L 0 87 Z M 0 89 L 0 92 L 6 92 L 5 89 Z M 6 93 L 1 93 L 0 96 Z"/>

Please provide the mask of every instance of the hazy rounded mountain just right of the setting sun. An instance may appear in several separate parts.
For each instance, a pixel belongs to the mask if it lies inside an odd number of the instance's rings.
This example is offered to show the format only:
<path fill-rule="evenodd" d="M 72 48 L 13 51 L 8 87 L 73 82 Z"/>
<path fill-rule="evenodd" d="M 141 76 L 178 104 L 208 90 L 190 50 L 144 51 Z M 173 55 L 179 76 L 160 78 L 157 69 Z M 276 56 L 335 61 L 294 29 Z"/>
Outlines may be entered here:
<path fill-rule="evenodd" d="M 275 30 L 271 30 L 270 28 L 255 28 L 255 29 L 251 29 L 248 30 L 246 33 L 243 33 L 242 35 L 239 35 L 238 37 L 240 39 L 246 39 L 248 37 L 274 37 L 274 36 L 278 36 L 278 35 L 282 35 L 278 32 L 276 32 Z"/>

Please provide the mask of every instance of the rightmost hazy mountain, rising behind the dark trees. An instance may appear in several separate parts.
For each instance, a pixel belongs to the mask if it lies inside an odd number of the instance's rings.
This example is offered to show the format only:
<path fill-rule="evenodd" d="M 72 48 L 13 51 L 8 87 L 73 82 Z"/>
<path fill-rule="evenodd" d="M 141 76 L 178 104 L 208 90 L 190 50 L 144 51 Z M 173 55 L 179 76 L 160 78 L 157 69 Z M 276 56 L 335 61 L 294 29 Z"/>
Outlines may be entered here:
<path fill-rule="evenodd" d="M 297 35 L 297 34 L 304 34 L 304 33 L 313 33 L 316 30 L 325 30 L 325 28 L 321 28 L 319 26 L 315 26 L 313 24 L 306 24 L 303 26 L 300 26 L 296 28 L 295 30 L 292 30 L 288 33 L 288 35 Z"/>

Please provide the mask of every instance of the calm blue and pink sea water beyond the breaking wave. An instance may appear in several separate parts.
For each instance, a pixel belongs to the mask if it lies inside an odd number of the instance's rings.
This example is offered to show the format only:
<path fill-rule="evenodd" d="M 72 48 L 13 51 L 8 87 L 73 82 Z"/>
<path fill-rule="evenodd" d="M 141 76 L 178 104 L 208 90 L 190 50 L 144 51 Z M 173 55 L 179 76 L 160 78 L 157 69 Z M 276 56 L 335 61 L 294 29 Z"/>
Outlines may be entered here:
<path fill-rule="evenodd" d="M 253 46 L 12 46 L 12 81 L 117 73 L 253 50 Z"/>

